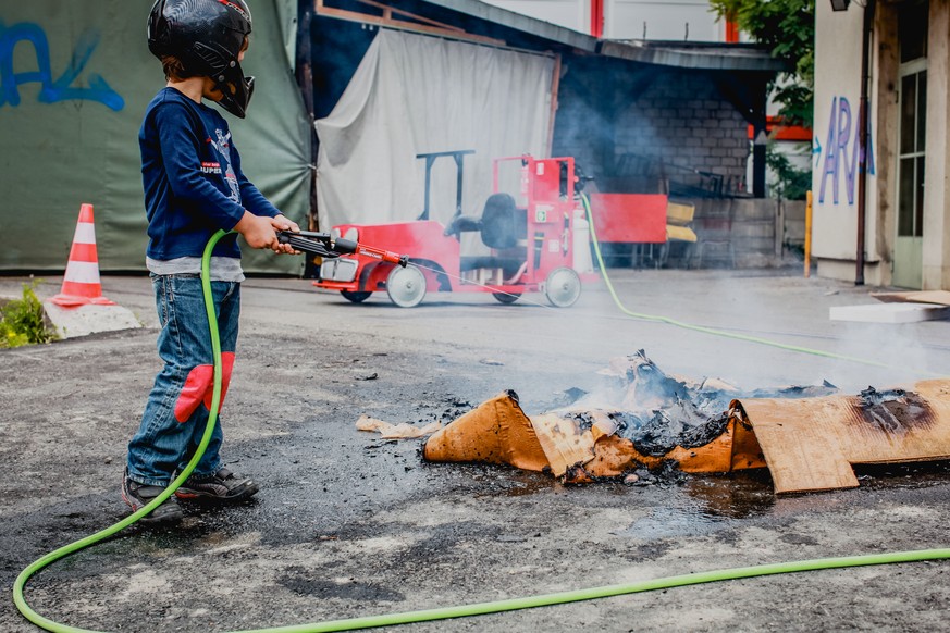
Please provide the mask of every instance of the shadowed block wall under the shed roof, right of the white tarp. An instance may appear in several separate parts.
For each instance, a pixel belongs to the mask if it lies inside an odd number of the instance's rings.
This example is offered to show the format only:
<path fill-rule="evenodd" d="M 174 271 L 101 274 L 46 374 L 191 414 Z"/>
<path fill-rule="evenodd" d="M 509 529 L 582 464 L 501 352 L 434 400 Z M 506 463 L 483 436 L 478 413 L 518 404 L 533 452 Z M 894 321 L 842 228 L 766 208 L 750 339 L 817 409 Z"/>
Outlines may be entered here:
<path fill-rule="evenodd" d="M 584 85 L 579 73 L 596 82 Z M 657 70 L 637 83 L 597 67 L 570 70 L 553 140 L 554 156 L 573 157 L 604 193 L 665 193 L 661 170 L 674 184 L 696 183 L 698 170 L 721 176 L 726 195 L 745 191 L 748 123 L 702 73 Z"/>

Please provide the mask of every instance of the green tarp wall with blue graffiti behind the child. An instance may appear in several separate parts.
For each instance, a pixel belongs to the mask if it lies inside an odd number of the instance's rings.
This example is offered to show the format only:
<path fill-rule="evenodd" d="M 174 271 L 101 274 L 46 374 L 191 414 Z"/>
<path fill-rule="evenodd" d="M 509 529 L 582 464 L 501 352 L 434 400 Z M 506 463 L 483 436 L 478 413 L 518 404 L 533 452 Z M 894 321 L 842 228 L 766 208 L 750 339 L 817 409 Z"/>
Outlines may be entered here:
<path fill-rule="evenodd" d="M 248 117 L 229 117 L 245 173 L 305 224 L 310 133 L 294 79 L 294 0 L 255 0 L 242 64 L 257 77 Z M 145 272 L 138 128 L 164 86 L 148 51 L 151 2 L 30 0 L 0 15 L 0 270 L 66 265 L 76 213 L 96 208 L 102 271 Z M 244 249 L 245 270 L 299 272 L 300 258 Z"/>

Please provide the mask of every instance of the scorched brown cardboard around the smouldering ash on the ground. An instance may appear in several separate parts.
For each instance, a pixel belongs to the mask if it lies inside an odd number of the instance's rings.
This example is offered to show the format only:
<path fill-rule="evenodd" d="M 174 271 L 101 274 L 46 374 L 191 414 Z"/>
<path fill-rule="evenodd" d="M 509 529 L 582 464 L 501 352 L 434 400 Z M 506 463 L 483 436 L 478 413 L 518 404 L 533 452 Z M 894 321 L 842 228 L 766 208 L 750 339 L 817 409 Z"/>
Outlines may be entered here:
<path fill-rule="evenodd" d="M 855 463 L 950 458 L 950 381 L 855 396 L 737 398 L 721 420 L 702 444 L 657 454 L 624 437 L 616 412 L 528 417 L 509 390 L 434 433 L 423 456 L 510 464 L 569 483 L 671 462 L 691 473 L 767 467 L 776 493 L 855 487 Z"/>

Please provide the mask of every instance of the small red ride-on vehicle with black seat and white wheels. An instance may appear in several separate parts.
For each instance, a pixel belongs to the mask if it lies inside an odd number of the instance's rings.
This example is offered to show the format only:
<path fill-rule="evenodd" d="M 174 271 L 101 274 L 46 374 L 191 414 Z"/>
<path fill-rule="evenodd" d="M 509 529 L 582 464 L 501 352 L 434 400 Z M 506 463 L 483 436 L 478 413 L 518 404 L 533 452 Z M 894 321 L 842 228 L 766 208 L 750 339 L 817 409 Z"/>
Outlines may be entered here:
<path fill-rule="evenodd" d="M 374 255 L 357 252 L 326 260 L 317 287 L 340 293 L 354 303 L 385 290 L 396 306 L 418 306 L 427 291 L 491 293 L 513 303 L 541 291 L 555 307 L 577 301 L 580 276 L 573 269 L 576 182 L 572 158 L 530 156 L 493 161 L 493 194 L 479 216 L 461 214 L 461 172 L 471 150 L 419 154 L 424 158 L 425 208 L 419 220 L 387 224 L 340 224 L 331 234 L 362 244 L 386 245 L 409 256 L 402 268 Z M 458 167 L 456 213 L 448 226 L 429 220 L 432 163 L 452 157 Z M 499 190 L 499 167 L 520 169 L 520 200 Z M 462 255 L 461 234 L 477 233 L 488 253 Z M 582 248 L 589 248 L 584 235 Z"/>

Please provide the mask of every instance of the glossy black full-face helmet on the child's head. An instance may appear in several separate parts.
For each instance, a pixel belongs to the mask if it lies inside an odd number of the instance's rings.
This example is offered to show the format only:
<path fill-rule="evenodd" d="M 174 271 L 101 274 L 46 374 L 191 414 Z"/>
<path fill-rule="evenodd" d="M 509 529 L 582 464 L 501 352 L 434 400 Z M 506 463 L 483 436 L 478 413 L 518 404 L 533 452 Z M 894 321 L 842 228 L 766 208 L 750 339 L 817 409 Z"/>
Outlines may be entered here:
<path fill-rule="evenodd" d="M 254 94 L 254 77 L 245 77 L 237 63 L 248 35 L 245 0 L 156 0 L 148 15 L 148 50 L 211 77 L 223 95 L 221 107 L 242 119 Z"/>

